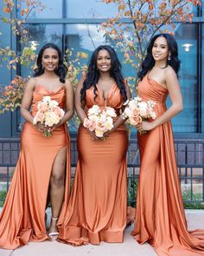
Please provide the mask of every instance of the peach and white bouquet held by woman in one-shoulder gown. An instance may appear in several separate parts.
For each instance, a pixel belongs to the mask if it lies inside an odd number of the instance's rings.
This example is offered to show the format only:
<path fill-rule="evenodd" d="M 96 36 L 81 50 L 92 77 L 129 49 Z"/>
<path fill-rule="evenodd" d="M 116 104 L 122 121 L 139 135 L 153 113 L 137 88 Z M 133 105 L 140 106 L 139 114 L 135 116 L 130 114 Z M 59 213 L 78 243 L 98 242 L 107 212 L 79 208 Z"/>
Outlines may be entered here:
<path fill-rule="evenodd" d="M 137 126 L 138 123 L 141 123 L 148 118 L 156 119 L 156 113 L 154 111 L 156 102 L 142 102 L 142 98 L 135 97 L 130 101 L 125 102 L 124 105 L 126 105 L 126 108 L 124 109 L 123 118 L 129 118 L 129 121 L 133 126 Z M 145 134 L 146 131 L 140 133 Z"/>

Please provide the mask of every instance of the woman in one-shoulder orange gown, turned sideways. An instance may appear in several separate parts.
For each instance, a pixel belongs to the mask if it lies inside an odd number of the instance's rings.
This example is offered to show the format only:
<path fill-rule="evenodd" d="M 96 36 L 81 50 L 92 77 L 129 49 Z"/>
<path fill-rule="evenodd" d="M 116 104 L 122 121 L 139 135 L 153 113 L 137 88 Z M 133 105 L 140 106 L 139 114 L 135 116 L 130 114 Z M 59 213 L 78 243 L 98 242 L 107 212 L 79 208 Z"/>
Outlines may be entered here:
<path fill-rule="evenodd" d="M 156 102 L 156 120 L 137 125 L 141 158 L 137 212 L 131 235 L 148 241 L 159 256 L 204 255 L 204 230 L 188 232 L 175 161 L 170 119 L 182 110 L 177 79 L 180 68 L 177 43 L 169 34 L 152 38 L 139 73 L 138 96 Z M 172 105 L 166 108 L 170 96 Z"/>

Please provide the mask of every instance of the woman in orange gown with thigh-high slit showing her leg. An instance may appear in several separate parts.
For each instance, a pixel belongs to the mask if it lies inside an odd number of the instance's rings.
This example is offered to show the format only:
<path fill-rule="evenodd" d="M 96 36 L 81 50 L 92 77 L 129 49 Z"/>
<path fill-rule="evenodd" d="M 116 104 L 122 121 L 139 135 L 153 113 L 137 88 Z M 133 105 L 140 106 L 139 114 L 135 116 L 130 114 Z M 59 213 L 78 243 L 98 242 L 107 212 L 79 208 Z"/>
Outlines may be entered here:
<path fill-rule="evenodd" d="M 53 43 L 44 45 L 37 58 L 35 77 L 29 80 L 22 99 L 21 114 L 26 122 L 21 152 L 0 217 L 1 248 L 15 249 L 29 241 L 52 240 L 58 235 L 57 220 L 64 218 L 70 190 L 66 122 L 73 115 L 73 87 L 65 79 L 66 73 L 61 50 Z M 49 129 L 51 137 L 43 136 L 47 127 L 39 122 L 33 124 L 43 96 L 50 96 L 66 109 L 61 121 Z M 48 191 L 52 206 L 49 234 L 45 225 Z"/>

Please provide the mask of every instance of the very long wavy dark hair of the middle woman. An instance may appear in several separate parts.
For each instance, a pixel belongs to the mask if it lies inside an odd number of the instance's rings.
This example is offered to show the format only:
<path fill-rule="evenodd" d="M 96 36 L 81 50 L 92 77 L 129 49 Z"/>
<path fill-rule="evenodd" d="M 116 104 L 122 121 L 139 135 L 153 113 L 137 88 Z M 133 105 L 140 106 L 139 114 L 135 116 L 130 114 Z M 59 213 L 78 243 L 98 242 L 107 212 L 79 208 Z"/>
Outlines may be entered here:
<path fill-rule="evenodd" d="M 111 56 L 111 64 L 112 68 L 110 70 L 110 75 L 114 79 L 114 81 L 117 83 L 118 88 L 120 89 L 120 93 L 123 96 L 124 102 L 127 100 L 126 90 L 124 86 L 124 77 L 122 75 L 121 69 L 121 63 L 118 60 L 118 56 L 115 52 L 115 50 L 109 46 L 109 45 L 100 45 L 97 49 L 95 49 L 92 53 L 89 66 L 88 66 L 88 72 L 86 74 L 85 81 L 83 83 L 83 88 L 80 91 L 80 101 L 85 103 L 86 102 L 86 89 L 90 89 L 93 86 L 93 92 L 94 92 L 94 100 L 97 97 L 97 87 L 96 84 L 99 81 L 99 70 L 97 69 L 97 56 L 99 54 L 99 50 L 106 49 L 110 56 Z"/>

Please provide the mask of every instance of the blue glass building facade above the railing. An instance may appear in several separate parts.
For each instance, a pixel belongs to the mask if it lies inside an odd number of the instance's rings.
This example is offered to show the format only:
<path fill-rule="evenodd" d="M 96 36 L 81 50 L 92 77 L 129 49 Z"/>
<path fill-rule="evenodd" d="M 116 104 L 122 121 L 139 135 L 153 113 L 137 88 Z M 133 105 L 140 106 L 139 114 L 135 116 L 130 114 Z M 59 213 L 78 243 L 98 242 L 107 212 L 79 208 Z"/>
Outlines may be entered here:
<path fill-rule="evenodd" d="M 3 2 L 3 1 L 2 1 Z M 3 3 L 0 3 L 0 14 Z M 17 1 L 22 8 L 25 3 Z M 29 30 L 30 43 L 36 50 L 44 43 L 53 42 L 63 51 L 72 48 L 73 52 L 85 51 L 89 56 L 92 50 L 105 43 L 105 37 L 99 25 L 106 18 L 116 15 L 114 4 L 105 4 L 97 0 L 43 0 L 45 10 L 34 11 L 25 26 Z M 180 84 L 182 88 L 184 110 L 173 120 L 175 138 L 204 138 L 204 67 L 202 65 L 204 7 L 194 8 L 193 23 L 176 23 L 175 38 L 179 45 L 181 59 Z M 2 13 L 3 14 L 3 13 Z M 16 10 L 16 15 L 19 13 Z M 3 46 L 21 51 L 19 38 L 13 35 L 10 25 L 1 22 L 1 40 Z M 121 60 L 123 62 L 123 60 Z M 124 68 L 124 76 L 130 75 Z M 131 75 L 134 70 L 131 69 Z M 7 85 L 15 75 L 32 75 L 29 69 L 0 69 L 0 83 Z M 169 102 L 170 103 L 170 102 Z M 0 115 L 0 138 L 19 137 L 21 134 L 19 111 Z M 75 132 L 71 130 L 71 132 Z M 133 134 L 135 131 L 133 130 Z"/>

